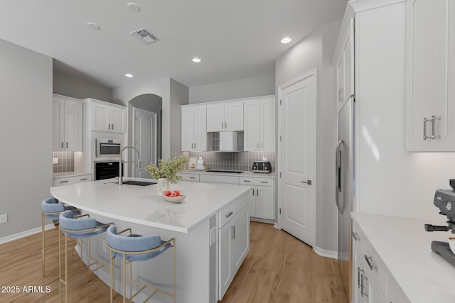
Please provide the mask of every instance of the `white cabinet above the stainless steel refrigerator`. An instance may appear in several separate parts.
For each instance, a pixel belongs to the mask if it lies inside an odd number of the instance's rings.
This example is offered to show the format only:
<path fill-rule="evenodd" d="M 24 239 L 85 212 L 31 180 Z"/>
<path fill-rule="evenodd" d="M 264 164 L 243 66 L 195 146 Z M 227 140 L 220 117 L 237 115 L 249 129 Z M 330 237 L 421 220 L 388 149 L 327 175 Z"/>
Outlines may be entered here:
<path fill-rule="evenodd" d="M 341 28 L 336 53 L 336 99 L 337 111 L 350 97 L 354 96 L 354 18 L 348 26 Z"/>

